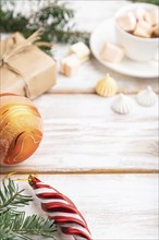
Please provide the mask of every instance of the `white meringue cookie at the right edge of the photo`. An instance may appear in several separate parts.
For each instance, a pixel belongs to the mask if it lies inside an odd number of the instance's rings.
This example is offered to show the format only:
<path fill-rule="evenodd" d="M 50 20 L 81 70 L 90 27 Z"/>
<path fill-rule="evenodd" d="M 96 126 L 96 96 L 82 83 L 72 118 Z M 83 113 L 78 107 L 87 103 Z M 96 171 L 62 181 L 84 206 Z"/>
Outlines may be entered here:
<path fill-rule="evenodd" d="M 154 106 L 157 101 L 157 95 L 150 86 L 137 94 L 137 101 L 145 107 Z"/>

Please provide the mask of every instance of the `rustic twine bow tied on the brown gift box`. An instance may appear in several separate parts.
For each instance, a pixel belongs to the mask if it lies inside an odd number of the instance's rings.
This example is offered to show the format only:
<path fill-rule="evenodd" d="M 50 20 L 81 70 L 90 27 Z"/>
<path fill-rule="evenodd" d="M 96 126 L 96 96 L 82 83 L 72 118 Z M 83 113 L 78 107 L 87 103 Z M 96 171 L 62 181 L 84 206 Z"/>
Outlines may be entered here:
<path fill-rule="evenodd" d="M 40 35 L 41 35 L 41 31 L 38 29 L 36 31 L 34 34 L 32 34 L 24 43 L 19 44 L 16 47 L 14 47 L 12 50 L 10 50 L 9 52 L 4 53 L 3 56 L 0 57 L 0 68 L 5 67 L 8 70 L 12 71 L 13 73 L 15 73 L 16 75 L 19 75 L 23 83 L 24 83 L 24 91 L 25 91 L 25 96 L 30 98 L 30 91 L 28 87 L 28 84 L 23 75 L 23 73 L 21 73 L 19 71 L 19 69 L 14 68 L 9 60 L 12 57 L 15 57 L 16 55 L 27 51 L 33 47 L 33 44 L 37 47 L 39 46 L 46 46 L 51 48 L 52 44 L 46 43 L 46 41 L 38 41 L 35 43 L 36 40 L 40 39 Z"/>

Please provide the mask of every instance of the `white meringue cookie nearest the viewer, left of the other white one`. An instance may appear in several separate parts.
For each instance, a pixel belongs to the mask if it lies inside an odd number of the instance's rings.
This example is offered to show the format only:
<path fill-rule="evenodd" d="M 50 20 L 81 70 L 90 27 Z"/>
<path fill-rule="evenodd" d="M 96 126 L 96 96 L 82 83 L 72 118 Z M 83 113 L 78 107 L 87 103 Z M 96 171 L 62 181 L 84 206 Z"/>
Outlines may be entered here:
<path fill-rule="evenodd" d="M 112 104 L 113 111 L 121 115 L 130 113 L 132 108 L 132 99 L 123 94 L 120 94 Z"/>

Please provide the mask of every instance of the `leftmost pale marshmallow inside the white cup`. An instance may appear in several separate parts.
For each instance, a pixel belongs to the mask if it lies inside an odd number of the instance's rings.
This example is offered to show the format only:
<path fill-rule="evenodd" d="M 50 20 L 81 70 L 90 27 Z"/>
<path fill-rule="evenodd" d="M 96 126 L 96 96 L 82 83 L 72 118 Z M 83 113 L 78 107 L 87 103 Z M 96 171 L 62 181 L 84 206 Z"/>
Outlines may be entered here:
<path fill-rule="evenodd" d="M 120 27 L 126 32 L 131 32 L 135 29 L 136 26 L 136 17 L 132 12 L 127 12 L 125 15 L 122 15 L 117 20 Z"/>

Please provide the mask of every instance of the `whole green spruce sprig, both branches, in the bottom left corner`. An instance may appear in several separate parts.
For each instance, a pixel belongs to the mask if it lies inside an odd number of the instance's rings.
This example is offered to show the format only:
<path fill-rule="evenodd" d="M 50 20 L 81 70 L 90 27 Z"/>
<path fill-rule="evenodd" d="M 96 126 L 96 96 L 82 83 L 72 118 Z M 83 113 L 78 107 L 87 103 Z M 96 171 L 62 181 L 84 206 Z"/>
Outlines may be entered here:
<path fill-rule="evenodd" d="M 54 238 L 57 230 L 53 220 L 41 216 L 25 216 L 20 207 L 28 205 L 30 196 L 24 190 L 19 190 L 17 184 L 9 179 L 0 183 L 0 239 L 1 240 L 34 240 L 36 236 Z"/>

